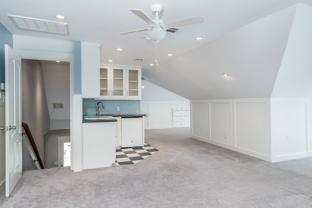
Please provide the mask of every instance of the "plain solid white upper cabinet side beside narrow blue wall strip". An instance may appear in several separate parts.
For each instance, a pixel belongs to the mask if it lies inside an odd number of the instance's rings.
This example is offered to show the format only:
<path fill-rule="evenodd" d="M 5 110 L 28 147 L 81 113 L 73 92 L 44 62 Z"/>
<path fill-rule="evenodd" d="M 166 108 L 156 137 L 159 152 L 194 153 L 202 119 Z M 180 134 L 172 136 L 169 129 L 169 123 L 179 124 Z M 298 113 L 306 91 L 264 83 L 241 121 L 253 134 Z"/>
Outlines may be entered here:
<path fill-rule="evenodd" d="M 99 46 L 98 43 L 81 42 L 81 95 L 84 98 L 100 95 Z"/>

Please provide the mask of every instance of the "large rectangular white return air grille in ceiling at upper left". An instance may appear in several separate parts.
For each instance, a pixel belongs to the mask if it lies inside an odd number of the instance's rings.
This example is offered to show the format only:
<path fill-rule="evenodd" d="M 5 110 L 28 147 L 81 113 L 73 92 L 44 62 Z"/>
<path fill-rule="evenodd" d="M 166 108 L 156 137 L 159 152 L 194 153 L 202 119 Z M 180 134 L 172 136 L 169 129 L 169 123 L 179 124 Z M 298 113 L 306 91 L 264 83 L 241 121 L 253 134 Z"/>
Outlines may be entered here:
<path fill-rule="evenodd" d="M 45 33 L 69 35 L 68 24 L 44 19 L 26 18 L 8 15 L 14 24 L 22 30 L 33 30 Z"/>

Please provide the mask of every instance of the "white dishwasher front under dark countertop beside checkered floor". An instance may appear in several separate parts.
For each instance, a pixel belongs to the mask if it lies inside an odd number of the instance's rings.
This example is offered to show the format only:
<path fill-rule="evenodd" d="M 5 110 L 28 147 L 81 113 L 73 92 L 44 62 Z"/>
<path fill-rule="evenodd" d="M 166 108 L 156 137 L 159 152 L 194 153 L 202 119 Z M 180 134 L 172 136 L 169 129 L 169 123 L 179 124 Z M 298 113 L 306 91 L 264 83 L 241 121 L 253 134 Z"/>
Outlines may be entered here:
<path fill-rule="evenodd" d="M 121 117 L 121 148 L 143 146 L 143 118 Z"/>

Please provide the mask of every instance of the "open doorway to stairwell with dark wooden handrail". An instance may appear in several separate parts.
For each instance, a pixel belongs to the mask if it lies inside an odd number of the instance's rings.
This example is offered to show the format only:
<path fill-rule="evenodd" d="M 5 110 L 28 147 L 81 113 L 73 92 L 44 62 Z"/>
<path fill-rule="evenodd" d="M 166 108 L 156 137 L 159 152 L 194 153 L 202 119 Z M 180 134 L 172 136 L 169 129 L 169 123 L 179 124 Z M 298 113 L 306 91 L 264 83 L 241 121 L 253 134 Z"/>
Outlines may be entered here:
<path fill-rule="evenodd" d="M 21 78 L 23 122 L 33 134 L 45 168 L 59 167 L 57 136 L 70 140 L 70 63 L 22 59 Z M 36 169 L 24 165 L 30 163 L 23 155 L 23 169 Z"/>

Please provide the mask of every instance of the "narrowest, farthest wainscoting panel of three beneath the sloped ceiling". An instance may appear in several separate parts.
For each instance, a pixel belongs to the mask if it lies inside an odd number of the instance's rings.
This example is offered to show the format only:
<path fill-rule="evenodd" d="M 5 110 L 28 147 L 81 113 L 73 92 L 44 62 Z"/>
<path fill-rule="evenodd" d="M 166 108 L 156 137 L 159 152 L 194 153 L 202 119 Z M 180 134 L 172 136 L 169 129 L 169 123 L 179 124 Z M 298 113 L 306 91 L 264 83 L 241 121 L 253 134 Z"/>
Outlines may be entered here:
<path fill-rule="evenodd" d="M 208 140 L 208 104 L 207 102 L 191 102 L 191 134 Z"/>

